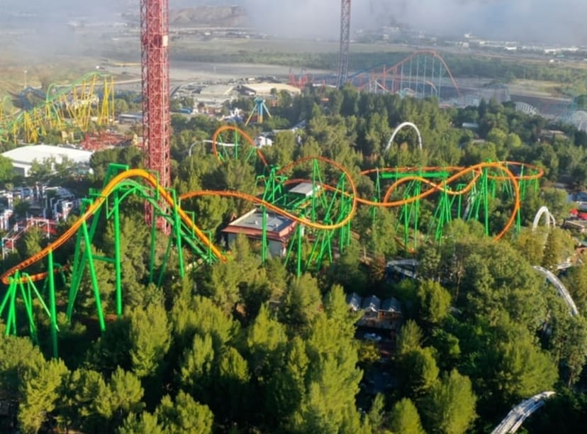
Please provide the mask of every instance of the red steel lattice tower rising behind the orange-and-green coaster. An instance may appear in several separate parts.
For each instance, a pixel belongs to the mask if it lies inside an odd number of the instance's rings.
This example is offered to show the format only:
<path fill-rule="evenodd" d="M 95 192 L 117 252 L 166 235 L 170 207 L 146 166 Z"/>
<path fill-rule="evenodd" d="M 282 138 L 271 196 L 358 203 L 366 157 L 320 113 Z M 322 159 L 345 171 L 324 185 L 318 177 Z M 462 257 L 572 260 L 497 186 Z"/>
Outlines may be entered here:
<path fill-rule="evenodd" d="M 159 174 L 162 187 L 171 184 L 171 121 L 169 118 L 169 0 L 140 1 L 142 72 L 142 140 L 145 166 Z M 152 221 L 152 206 L 145 219 Z M 165 227 L 162 219 L 159 228 Z"/>

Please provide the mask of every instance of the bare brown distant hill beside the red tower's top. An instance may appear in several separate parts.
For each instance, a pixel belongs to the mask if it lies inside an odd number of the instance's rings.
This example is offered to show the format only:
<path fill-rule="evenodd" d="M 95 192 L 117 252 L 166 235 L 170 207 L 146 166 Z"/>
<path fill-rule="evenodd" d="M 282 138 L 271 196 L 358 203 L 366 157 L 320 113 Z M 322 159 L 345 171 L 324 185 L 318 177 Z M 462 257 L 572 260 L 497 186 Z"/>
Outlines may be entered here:
<path fill-rule="evenodd" d="M 247 13 L 240 6 L 196 6 L 169 11 L 170 26 L 242 27 Z"/>

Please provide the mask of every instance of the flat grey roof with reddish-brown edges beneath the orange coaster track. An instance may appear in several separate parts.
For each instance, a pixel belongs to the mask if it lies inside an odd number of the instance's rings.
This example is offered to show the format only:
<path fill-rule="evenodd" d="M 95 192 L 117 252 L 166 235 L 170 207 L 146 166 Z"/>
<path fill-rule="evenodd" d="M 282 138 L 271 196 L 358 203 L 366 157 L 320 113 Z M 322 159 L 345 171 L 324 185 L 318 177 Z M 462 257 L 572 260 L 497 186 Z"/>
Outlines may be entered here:
<path fill-rule="evenodd" d="M 276 213 L 267 212 L 267 238 L 270 240 L 287 241 L 296 228 L 296 222 Z M 229 223 L 224 233 L 244 233 L 245 235 L 260 237 L 263 233 L 263 212 L 255 208 Z"/>

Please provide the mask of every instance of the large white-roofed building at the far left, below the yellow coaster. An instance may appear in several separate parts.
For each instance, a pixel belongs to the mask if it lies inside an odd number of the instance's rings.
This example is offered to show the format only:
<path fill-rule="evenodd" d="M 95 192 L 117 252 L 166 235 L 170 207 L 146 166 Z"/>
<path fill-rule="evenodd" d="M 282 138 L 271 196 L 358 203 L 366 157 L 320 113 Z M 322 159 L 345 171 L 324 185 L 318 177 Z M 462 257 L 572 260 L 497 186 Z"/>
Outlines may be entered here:
<path fill-rule="evenodd" d="M 46 160 L 55 159 L 55 162 L 60 164 L 67 158 L 82 167 L 89 167 L 89 160 L 93 153 L 75 148 L 65 148 L 63 146 L 26 145 L 3 152 L 2 155 L 12 160 L 12 166 L 16 173 L 23 177 L 28 177 L 30 175 L 30 167 L 35 161 L 43 163 Z"/>

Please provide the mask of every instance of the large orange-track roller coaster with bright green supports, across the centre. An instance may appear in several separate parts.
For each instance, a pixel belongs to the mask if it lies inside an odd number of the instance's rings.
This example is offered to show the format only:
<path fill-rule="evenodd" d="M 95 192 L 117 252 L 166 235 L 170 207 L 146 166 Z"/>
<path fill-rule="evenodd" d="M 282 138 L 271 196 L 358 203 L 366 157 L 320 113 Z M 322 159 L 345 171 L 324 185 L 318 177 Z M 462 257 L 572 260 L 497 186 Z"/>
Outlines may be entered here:
<path fill-rule="evenodd" d="M 220 139 L 223 134 L 235 136 L 232 146 L 218 146 L 218 140 L 229 142 Z M 99 261 L 113 266 L 116 315 L 122 316 L 120 215 L 126 199 L 152 204 L 155 216 L 164 218 L 172 228 L 170 236 L 158 232 L 154 225 L 151 229 L 149 282 L 161 286 L 172 250 L 178 257 L 179 277 L 196 266 L 228 260 L 227 253 L 212 242 L 213 236 L 196 225 L 196 216 L 189 204 L 203 196 L 247 201 L 257 208 L 262 216 L 259 240 L 263 259 L 268 257 L 267 236 L 272 230 L 267 223 L 269 217 L 281 216 L 289 221 L 294 230 L 287 241 L 284 260 L 290 269 L 301 274 L 306 270 L 323 269 L 345 252 L 352 238 L 352 218 L 359 206 L 369 207 L 374 225 L 378 209 L 395 209 L 396 233 L 386 236 L 392 239 L 397 235 L 410 251 L 426 238 L 442 242 L 442 228 L 457 218 L 480 220 L 486 234 L 499 240 L 508 230 L 519 226 L 523 191 L 542 176 L 537 167 L 514 162 L 484 162 L 471 167 L 376 168 L 358 175 L 369 177 L 374 184 L 374 196 L 364 198 L 357 191 L 358 179 L 337 162 L 324 157 L 306 157 L 284 167 L 269 167 L 259 148 L 252 144 L 254 142 L 242 130 L 225 126 L 214 135 L 213 153 L 220 164 L 238 158 L 260 167 L 262 174 L 257 177 L 257 194 L 204 190 L 178 195 L 172 189 L 162 188 L 157 177 L 149 172 L 111 165 L 104 187 L 89 192 L 88 198 L 82 201 L 81 215 L 71 227 L 43 250 L 1 274 L 6 291 L 0 301 L 0 315 L 6 323 L 6 334 L 28 329 L 33 340 L 38 340 L 37 317 L 45 315 L 49 318 L 53 353 L 57 355 L 56 292 L 68 294 L 65 311 L 72 321 L 82 279 L 91 282 L 96 316 L 99 327 L 104 330 L 106 314 L 96 276 L 96 262 Z M 301 186 L 305 187 L 306 194 L 299 194 Z M 511 204 L 510 218 L 503 227 L 490 224 L 490 206 L 496 198 L 508 199 Z M 427 209 L 426 213 L 423 208 Z M 99 255 L 91 247 L 99 221 L 104 218 L 113 226 L 111 257 Z M 155 246 L 160 237 L 167 248 L 158 262 Z M 72 259 L 67 264 L 55 263 L 54 252 L 69 240 L 75 244 Z M 58 276 L 61 278 L 57 279 Z"/>

